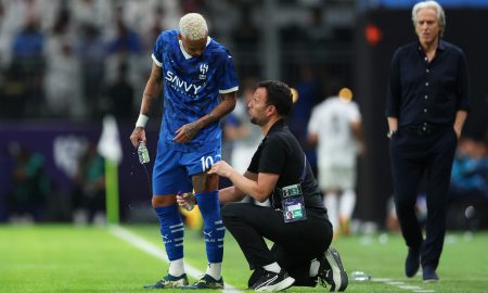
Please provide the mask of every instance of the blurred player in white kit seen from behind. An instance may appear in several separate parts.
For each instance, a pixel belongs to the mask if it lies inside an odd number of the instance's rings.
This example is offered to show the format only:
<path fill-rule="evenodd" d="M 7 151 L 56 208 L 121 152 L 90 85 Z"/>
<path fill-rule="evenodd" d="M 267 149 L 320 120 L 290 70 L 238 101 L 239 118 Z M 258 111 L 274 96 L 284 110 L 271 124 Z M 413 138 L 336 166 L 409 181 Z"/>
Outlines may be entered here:
<path fill-rule="evenodd" d="M 357 155 L 364 152 L 361 114 L 349 89 L 312 110 L 307 139 L 318 145 L 319 186 L 334 237 L 339 231 L 347 235 L 356 205 Z"/>

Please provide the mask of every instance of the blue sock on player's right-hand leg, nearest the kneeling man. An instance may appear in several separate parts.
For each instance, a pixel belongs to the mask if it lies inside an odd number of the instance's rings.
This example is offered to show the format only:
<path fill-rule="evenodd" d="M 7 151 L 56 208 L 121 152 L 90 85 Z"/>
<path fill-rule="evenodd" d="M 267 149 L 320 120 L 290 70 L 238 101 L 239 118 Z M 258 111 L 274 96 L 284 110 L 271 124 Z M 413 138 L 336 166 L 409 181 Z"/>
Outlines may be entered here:
<path fill-rule="evenodd" d="M 226 228 L 220 217 L 219 192 L 196 193 L 195 198 L 204 219 L 204 238 L 208 263 L 222 263 Z"/>

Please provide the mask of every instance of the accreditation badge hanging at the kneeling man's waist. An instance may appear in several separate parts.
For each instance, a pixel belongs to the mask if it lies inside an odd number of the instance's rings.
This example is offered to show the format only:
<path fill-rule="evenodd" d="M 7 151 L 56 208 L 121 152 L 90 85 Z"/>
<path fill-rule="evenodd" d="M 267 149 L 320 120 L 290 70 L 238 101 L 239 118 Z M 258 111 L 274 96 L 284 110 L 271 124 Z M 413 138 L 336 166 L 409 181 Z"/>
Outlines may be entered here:
<path fill-rule="evenodd" d="M 281 189 L 281 206 L 285 222 L 306 220 L 304 194 L 301 186 L 293 184 Z"/>

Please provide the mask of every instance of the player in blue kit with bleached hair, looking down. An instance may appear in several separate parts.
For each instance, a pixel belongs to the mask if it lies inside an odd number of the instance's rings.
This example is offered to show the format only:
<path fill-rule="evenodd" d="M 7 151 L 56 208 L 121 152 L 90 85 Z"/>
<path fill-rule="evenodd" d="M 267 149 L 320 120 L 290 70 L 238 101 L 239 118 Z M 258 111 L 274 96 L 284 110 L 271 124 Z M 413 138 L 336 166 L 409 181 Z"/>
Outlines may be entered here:
<path fill-rule="evenodd" d="M 239 85 L 232 56 L 222 44 L 208 37 L 205 18 L 189 13 L 181 17 L 179 30 L 159 35 L 152 59 L 151 76 L 130 140 L 134 146 L 146 140 L 144 127 L 150 110 L 164 86 L 152 204 L 159 218 L 170 264 L 163 279 L 145 288 L 188 286 L 183 222 L 176 194 L 194 189 L 204 219 L 208 267 L 205 276 L 189 288 L 221 289 L 224 227 L 220 218 L 218 176 L 208 175 L 207 170 L 220 161 L 219 119 L 235 106 Z"/>

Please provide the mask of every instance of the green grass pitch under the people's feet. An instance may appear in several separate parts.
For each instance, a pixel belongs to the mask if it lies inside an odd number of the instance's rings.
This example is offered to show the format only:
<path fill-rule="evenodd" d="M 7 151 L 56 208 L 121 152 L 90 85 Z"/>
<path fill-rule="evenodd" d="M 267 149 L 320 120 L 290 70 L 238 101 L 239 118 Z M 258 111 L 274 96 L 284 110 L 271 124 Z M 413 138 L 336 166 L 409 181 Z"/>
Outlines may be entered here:
<path fill-rule="evenodd" d="M 156 225 L 123 226 L 163 255 Z M 403 276 L 406 247 L 399 234 L 339 238 L 333 242 L 348 273 L 361 270 L 373 279 L 350 281 L 347 292 L 488 292 L 488 233 L 449 233 L 438 268 L 439 283 Z M 305 247 L 306 249 L 306 247 Z M 185 233 L 185 262 L 205 271 L 204 242 Z M 147 292 L 167 264 L 120 239 L 111 227 L 68 225 L 0 226 L 0 292 Z M 239 245 L 226 234 L 223 279 L 245 291 L 249 270 Z M 191 281 L 195 277 L 191 277 Z M 181 290 L 165 290 L 181 292 Z M 287 292 L 326 292 L 317 286 Z"/>

